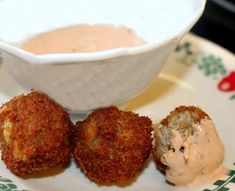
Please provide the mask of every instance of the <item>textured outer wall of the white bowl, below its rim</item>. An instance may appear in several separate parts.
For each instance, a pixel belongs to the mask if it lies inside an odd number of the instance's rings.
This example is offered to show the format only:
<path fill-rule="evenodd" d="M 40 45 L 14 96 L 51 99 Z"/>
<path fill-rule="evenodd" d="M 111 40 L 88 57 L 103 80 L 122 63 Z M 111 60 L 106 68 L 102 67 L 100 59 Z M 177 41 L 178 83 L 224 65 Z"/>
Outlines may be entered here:
<path fill-rule="evenodd" d="M 72 112 L 84 112 L 120 105 L 139 94 L 160 72 L 175 46 L 170 41 L 136 55 L 53 65 L 27 63 L 3 52 L 3 68 L 23 88 L 45 92 Z"/>

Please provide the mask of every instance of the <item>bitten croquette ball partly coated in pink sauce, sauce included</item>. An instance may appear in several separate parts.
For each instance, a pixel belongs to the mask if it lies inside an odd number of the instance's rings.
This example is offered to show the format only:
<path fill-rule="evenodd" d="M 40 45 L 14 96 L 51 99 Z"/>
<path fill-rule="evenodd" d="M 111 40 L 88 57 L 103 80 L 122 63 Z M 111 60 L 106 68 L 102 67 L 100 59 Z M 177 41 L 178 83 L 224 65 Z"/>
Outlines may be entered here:
<path fill-rule="evenodd" d="M 214 123 L 198 107 L 177 107 L 155 127 L 154 138 L 155 162 L 176 186 L 213 173 L 224 159 Z"/>

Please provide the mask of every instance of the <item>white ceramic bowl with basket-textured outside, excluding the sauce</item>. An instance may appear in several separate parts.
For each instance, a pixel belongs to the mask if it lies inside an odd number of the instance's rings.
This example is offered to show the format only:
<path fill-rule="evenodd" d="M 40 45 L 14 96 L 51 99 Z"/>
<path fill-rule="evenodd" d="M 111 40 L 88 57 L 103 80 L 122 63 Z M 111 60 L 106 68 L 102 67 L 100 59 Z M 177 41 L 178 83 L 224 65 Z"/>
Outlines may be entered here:
<path fill-rule="evenodd" d="M 1 0 L 3 68 L 26 90 L 45 92 L 72 112 L 119 105 L 160 72 L 204 6 L 205 0 Z M 34 55 L 18 48 L 37 33 L 79 23 L 124 25 L 147 43 L 80 54 Z"/>

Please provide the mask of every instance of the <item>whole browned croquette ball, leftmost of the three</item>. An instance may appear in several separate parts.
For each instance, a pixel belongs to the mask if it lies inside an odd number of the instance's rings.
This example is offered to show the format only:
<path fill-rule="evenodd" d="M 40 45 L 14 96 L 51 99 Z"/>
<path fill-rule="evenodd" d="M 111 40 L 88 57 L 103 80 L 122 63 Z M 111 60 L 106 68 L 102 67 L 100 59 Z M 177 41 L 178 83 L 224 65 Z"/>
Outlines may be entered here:
<path fill-rule="evenodd" d="M 68 113 L 46 95 L 31 92 L 0 108 L 2 160 L 18 176 L 66 164 L 70 160 Z"/>

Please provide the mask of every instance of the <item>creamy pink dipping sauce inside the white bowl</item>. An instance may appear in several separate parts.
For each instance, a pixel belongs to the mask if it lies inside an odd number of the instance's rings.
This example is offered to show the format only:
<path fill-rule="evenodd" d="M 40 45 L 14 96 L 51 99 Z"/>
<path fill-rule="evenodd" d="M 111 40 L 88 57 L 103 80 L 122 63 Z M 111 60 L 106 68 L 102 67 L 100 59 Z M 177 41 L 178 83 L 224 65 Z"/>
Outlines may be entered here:
<path fill-rule="evenodd" d="M 21 48 L 34 54 L 96 52 L 144 44 L 131 29 L 104 24 L 75 25 L 41 33 Z"/>

